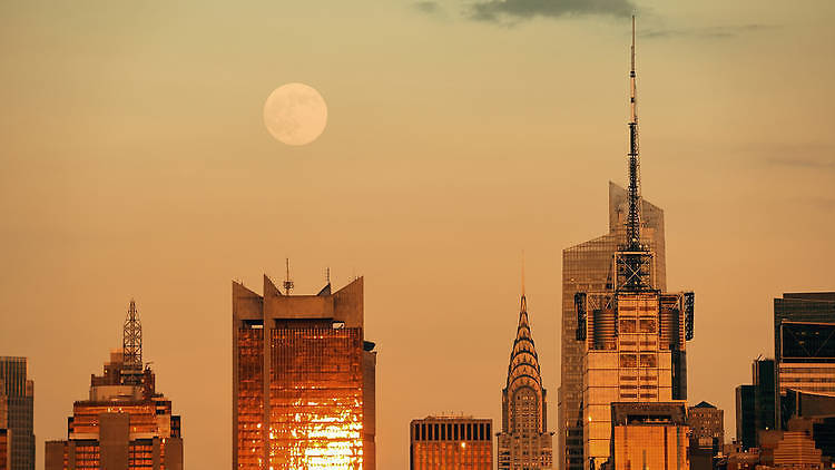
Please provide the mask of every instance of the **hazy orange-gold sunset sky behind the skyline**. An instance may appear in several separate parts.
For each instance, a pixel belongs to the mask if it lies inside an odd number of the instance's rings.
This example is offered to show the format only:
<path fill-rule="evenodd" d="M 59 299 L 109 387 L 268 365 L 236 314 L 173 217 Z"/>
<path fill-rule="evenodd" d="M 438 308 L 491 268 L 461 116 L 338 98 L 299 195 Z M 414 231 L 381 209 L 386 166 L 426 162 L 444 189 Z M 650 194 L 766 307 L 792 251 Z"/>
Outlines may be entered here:
<path fill-rule="evenodd" d="M 689 401 L 725 409 L 772 355 L 772 298 L 835 290 L 835 3 L 0 2 L 0 355 L 66 437 L 135 297 L 188 468 L 228 468 L 230 281 L 365 276 L 377 460 L 407 423 L 494 420 L 527 257 L 557 427 L 561 251 L 625 184 L 638 12 L 644 194 L 668 287 L 696 292 Z M 327 101 L 288 147 L 264 100 Z M 557 439 L 554 438 L 554 450 Z"/>

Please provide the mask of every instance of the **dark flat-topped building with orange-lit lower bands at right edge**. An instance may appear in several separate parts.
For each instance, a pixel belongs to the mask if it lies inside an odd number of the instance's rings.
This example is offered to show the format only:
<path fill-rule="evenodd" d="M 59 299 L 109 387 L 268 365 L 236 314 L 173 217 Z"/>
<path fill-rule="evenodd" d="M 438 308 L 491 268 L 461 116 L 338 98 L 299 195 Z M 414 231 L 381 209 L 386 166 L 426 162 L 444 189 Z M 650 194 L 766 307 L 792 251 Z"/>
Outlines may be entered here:
<path fill-rule="evenodd" d="M 835 393 L 835 292 L 786 293 L 774 300 L 775 403 L 786 391 Z M 775 407 L 775 423 L 787 418 Z M 776 428 L 776 427 L 775 427 Z"/>

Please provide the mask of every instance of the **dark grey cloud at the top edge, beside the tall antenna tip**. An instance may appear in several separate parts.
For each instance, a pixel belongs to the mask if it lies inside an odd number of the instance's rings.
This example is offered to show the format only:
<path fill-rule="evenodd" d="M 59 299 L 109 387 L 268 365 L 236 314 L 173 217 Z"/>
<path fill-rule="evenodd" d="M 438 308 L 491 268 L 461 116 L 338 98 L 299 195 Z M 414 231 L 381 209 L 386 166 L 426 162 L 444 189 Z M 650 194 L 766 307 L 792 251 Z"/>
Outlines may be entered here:
<path fill-rule="evenodd" d="M 473 3 L 469 17 L 479 21 L 529 20 L 564 16 L 628 17 L 636 6 L 630 0 L 487 0 Z"/>

